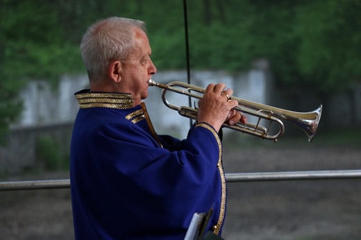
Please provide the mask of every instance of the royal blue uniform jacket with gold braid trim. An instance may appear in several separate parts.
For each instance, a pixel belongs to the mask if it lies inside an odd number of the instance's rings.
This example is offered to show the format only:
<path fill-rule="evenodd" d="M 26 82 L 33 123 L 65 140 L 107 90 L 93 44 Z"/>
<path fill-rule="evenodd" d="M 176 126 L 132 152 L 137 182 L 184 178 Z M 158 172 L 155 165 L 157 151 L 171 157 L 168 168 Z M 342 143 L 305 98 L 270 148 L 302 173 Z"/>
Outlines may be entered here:
<path fill-rule="evenodd" d="M 187 139 L 149 130 L 130 94 L 76 93 L 81 109 L 71 144 L 76 239 L 184 239 L 195 212 L 226 212 L 221 141 L 205 123 Z M 217 226 L 214 228 L 214 226 Z"/>

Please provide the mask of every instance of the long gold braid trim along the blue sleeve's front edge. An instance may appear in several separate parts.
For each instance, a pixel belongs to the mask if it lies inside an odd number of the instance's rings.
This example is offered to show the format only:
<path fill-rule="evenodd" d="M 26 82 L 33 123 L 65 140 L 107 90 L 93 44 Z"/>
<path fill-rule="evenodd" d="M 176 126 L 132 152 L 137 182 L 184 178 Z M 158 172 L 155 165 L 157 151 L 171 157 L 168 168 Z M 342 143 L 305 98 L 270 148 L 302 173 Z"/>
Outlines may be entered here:
<path fill-rule="evenodd" d="M 227 196 L 226 175 L 224 175 L 224 169 L 223 169 L 223 165 L 222 165 L 221 139 L 219 139 L 219 136 L 218 136 L 218 133 L 216 132 L 216 130 L 214 128 L 212 128 L 210 125 L 208 125 L 207 123 L 198 123 L 196 125 L 196 127 L 199 127 L 199 126 L 201 126 L 203 128 L 207 128 L 208 130 L 210 130 L 210 132 L 213 133 L 213 135 L 215 135 L 215 138 L 216 138 L 217 144 L 218 144 L 218 148 L 219 148 L 217 167 L 218 167 L 218 171 L 219 171 L 219 176 L 221 177 L 221 209 L 219 209 L 219 217 L 218 217 L 217 224 L 213 226 L 213 232 L 218 235 L 219 230 L 221 230 L 221 225 L 224 222 L 224 216 L 226 215 L 226 196 Z"/>

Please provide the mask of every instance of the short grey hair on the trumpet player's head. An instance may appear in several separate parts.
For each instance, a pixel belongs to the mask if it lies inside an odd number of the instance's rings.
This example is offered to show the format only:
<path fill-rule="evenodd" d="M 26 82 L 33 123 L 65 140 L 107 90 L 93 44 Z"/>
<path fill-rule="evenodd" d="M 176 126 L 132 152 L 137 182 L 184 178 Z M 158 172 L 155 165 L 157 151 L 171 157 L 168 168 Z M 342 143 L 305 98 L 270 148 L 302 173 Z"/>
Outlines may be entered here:
<path fill-rule="evenodd" d="M 114 60 L 126 60 L 135 48 L 135 30 L 146 31 L 145 23 L 123 17 L 100 20 L 87 28 L 81 40 L 81 57 L 90 83 L 102 80 Z"/>

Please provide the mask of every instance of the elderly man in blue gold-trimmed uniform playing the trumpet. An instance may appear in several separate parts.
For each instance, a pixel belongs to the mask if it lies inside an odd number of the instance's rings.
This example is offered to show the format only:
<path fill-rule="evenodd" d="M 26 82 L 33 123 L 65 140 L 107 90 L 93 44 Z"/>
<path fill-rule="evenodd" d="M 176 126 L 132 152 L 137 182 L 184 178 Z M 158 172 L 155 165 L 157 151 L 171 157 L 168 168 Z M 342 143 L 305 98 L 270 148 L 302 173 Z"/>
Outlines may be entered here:
<path fill-rule="evenodd" d="M 81 55 L 90 89 L 71 145 L 76 239 L 184 239 L 195 212 L 213 207 L 207 230 L 221 234 L 226 178 L 218 132 L 246 121 L 232 89 L 208 85 L 187 139 L 156 135 L 142 100 L 156 74 L 144 22 L 110 17 L 87 29 Z"/>

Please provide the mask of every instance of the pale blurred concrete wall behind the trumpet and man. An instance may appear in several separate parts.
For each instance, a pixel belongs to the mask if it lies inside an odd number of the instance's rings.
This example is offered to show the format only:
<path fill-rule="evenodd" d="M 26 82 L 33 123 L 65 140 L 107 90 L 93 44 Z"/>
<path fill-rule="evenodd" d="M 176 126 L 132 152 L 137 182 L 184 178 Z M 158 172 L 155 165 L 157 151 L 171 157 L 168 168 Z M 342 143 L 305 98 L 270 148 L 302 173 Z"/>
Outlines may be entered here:
<path fill-rule="evenodd" d="M 182 81 L 187 83 L 185 71 L 159 72 L 154 76 L 159 83 Z M 267 78 L 264 70 L 253 69 L 246 73 L 228 74 L 225 71 L 195 71 L 191 74 L 192 85 L 206 87 L 209 83 L 226 83 L 227 87 L 233 88 L 234 96 L 267 103 L 271 89 L 271 79 Z M 35 127 L 49 124 L 60 124 L 74 121 L 78 111 L 78 103 L 74 93 L 88 87 L 87 76 L 64 76 L 58 85 L 58 89 L 51 87 L 44 81 L 29 83 L 20 96 L 24 101 L 24 111 L 12 128 Z M 160 133 L 169 130 L 185 137 L 189 127 L 189 120 L 179 117 L 174 110 L 169 110 L 161 98 L 162 89 L 149 88 L 149 97 L 145 100 L 151 114 L 154 127 Z M 167 94 L 167 99 L 174 105 L 188 105 L 187 96 L 181 94 Z"/>

